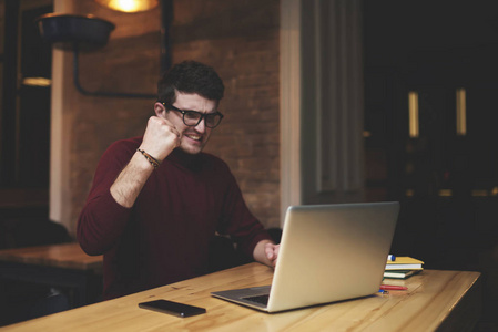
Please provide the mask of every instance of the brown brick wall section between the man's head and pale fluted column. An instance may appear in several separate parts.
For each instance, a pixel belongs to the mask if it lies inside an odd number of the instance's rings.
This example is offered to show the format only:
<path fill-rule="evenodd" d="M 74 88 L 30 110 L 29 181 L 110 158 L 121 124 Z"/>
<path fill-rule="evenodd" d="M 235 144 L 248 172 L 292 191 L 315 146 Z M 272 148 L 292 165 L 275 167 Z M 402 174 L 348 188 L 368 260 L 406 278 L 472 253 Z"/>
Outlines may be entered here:
<path fill-rule="evenodd" d="M 225 82 L 206 151 L 228 163 L 262 222 L 278 226 L 280 1 L 176 1 L 174 12 L 173 60 L 199 59 Z"/>

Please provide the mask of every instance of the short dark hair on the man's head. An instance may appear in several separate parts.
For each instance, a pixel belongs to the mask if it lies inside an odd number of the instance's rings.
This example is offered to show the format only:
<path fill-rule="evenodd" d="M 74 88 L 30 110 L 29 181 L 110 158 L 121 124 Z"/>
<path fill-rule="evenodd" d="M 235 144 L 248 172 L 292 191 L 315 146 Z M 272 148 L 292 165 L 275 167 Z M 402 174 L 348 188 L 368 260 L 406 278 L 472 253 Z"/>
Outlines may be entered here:
<path fill-rule="evenodd" d="M 172 66 L 157 82 L 157 101 L 173 104 L 176 91 L 220 102 L 225 86 L 213 68 L 189 60 Z"/>

